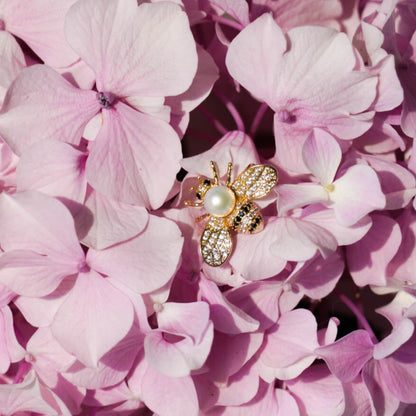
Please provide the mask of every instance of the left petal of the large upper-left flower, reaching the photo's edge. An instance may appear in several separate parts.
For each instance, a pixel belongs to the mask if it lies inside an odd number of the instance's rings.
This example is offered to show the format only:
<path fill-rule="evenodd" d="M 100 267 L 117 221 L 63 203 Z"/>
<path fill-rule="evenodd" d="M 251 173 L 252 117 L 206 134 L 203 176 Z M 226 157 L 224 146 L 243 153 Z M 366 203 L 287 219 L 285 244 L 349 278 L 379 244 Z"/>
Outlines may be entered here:
<path fill-rule="evenodd" d="M 44 139 L 79 144 L 99 109 L 94 91 L 75 88 L 47 66 L 34 65 L 22 70 L 7 92 L 0 134 L 17 155 Z"/>

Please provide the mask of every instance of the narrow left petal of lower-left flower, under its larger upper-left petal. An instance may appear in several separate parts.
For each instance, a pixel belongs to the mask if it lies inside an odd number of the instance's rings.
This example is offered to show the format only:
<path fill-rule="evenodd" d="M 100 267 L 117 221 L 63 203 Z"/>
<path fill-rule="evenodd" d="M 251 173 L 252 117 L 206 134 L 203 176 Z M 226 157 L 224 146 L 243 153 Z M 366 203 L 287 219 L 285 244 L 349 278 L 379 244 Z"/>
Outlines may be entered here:
<path fill-rule="evenodd" d="M 67 277 L 78 272 L 78 262 L 39 254 L 30 250 L 12 250 L 0 256 L 0 282 L 18 295 L 49 295 Z"/>

